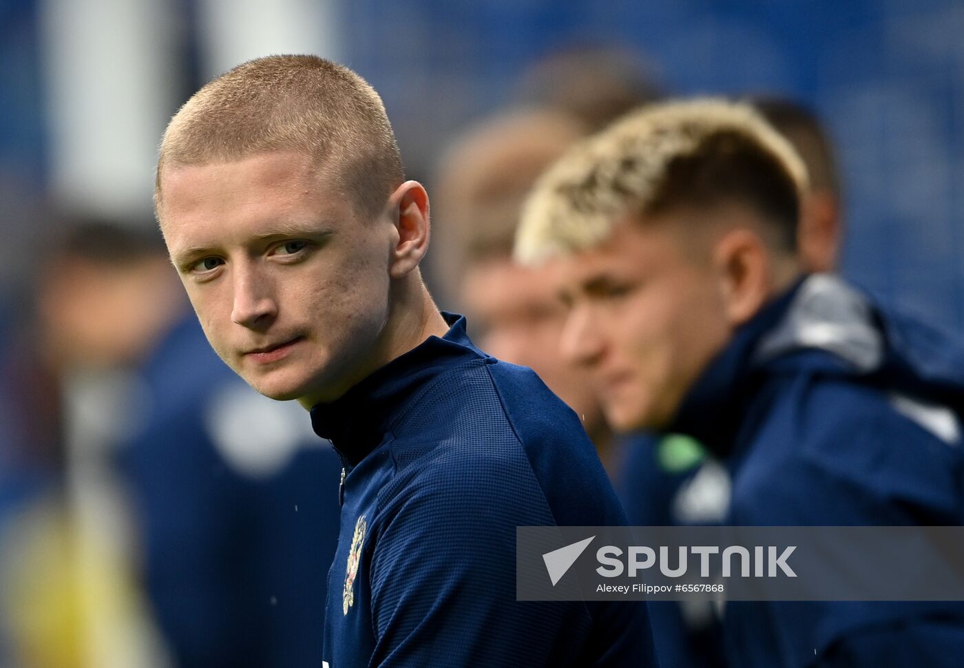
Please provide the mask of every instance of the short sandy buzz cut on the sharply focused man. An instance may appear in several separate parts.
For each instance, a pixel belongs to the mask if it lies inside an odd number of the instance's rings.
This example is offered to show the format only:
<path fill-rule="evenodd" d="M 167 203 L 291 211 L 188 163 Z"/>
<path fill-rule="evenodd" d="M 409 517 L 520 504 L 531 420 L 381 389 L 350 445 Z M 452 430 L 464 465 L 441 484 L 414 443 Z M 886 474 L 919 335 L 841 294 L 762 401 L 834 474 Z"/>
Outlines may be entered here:
<path fill-rule="evenodd" d="M 278 150 L 310 156 L 369 215 L 404 180 L 385 105 L 361 76 L 317 56 L 268 56 L 212 80 L 174 114 L 157 161 L 158 218 L 165 169 Z"/>

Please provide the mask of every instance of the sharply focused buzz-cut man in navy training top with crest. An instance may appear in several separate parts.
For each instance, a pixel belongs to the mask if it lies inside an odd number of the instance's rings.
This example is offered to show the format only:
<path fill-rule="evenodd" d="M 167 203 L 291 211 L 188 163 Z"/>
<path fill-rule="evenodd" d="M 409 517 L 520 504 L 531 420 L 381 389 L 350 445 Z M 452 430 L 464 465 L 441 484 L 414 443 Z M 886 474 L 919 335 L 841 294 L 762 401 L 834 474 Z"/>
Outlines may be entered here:
<path fill-rule="evenodd" d="M 653 665 L 643 604 L 515 600 L 517 526 L 625 515 L 576 415 L 435 307 L 428 198 L 361 77 L 278 56 L 215 79 L 156 201 L 213 348 L 344 463 L 328 665 Z"/>

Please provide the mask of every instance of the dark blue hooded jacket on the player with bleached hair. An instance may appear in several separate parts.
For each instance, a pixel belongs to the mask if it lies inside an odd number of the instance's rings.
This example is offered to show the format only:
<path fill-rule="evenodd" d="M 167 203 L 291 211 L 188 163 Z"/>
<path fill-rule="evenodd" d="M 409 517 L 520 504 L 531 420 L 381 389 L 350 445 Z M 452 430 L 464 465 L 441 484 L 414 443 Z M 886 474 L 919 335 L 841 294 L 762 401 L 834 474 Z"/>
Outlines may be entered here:
<path fill-rule="evenodd" d="M 724 460 L 729 522 L 964 521 L 964 351 L 816 275 L 736 333 L 673 431 Z M 742 602 L 727 657 L 773 666 L 959 666 L 964 603 Z"/>

